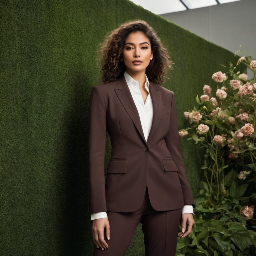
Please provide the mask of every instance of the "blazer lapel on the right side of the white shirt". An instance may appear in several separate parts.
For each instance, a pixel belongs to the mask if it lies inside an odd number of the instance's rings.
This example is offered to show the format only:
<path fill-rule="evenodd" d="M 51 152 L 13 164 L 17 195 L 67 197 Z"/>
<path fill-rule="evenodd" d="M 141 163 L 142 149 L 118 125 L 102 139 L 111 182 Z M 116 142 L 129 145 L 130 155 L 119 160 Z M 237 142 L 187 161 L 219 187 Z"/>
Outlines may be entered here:
<path fill-rule="evenodd" d="M 162 115 L 162 100 L 161 100 L 161 93 L 158 90 L 158 88 L 155 86 L 155 84 L 152 84 L 150 82 L 149 86 L 149 92 L 153 103 L 153 121 L 150 133 L 148 135 L 147 141 L 150 139 L 150 137 L 153 135 L 154 131 L 156 130 L 156 127 L 161 119 Z"/>

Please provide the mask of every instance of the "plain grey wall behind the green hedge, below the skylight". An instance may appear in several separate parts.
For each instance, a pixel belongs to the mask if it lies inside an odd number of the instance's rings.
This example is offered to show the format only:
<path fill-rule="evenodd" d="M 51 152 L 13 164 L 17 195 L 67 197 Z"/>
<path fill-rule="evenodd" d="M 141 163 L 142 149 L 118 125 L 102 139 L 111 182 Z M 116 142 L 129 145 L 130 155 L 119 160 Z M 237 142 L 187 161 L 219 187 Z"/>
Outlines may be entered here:
<path fill-rule="evenodd" d="M 242 45 L 256 59 L 255 12 L 256 1 L 243 0 L 161 16 L 231 52 Z"/>

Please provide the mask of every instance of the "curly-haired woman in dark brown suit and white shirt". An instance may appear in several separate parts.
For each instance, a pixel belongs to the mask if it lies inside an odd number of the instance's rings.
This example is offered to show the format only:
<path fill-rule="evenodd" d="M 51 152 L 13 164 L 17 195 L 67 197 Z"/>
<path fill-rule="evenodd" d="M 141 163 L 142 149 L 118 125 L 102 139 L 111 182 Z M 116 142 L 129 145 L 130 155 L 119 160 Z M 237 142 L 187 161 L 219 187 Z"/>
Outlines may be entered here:
<path fill-rule="evenodd" d="M 167 51 L 143 20 L 103 42 L 103 84 L 89 103 L 90 209 L 94 255 L 122 256 L 139 222 L 145 255 L 175 255 L 179 221 L 194 225 L 193 197 L 179 147 L 173 92 L 159 86 Z M 106 132 L 112 151 L 104 177 Z"/>

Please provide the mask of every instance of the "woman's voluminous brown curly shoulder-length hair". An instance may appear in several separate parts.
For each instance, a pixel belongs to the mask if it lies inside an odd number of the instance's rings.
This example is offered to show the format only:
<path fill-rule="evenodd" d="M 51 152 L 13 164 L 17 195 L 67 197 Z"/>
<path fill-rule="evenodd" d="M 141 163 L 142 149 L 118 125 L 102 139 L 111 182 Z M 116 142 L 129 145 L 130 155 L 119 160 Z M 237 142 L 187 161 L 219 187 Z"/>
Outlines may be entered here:
<path fill-rule="evenodd" d="M 126 67 L 122 59 L 122 51 L 126 37 L 133 32 L 141 31 L 151 43 L 151 50 L 154 54 L 153 60 L 146 68 L 146 75 L 149 81 L 161 84 L 167 68 L 171 68 L 168 52 L 163 46 L 161 39 L 156 35 L 155 30 L 144 20 L 134 20 L 123 23 L 114 29 L 101 44 L 100 65 L 103 83 L 115 81 L 120 77 Z"/>

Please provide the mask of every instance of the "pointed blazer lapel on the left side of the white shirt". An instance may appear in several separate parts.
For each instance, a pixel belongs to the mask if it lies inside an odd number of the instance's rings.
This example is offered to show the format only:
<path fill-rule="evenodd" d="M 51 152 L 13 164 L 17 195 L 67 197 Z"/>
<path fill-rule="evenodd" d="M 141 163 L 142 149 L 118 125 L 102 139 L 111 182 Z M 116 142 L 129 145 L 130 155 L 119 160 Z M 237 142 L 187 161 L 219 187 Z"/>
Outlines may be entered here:
<path fill-rule="evenodd" d="M 141 137 L 143 138 L 144 142 L 146 143 L 144 133 L 142 130 L 142 126 L 141 126 L 140 116 L 139 116 L 136 105 L 132 98 L 132 94 L 127 86 L 124 76 L 117 79 L 117 88 L 114 88 L 114 90 L 115 90 L 116 95 L 119 98 L 120 102 L 122 103 L 123 107 L 125 108 L 126 112 L 132 119 L 132 121 L 133 121 L 134 125 L 136 126 L 138 132 L 140 133 Z"/>

